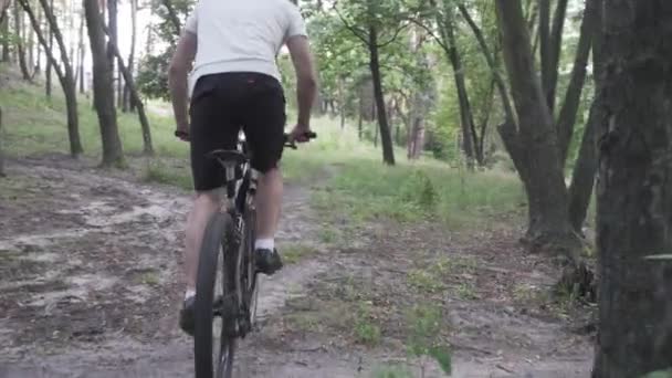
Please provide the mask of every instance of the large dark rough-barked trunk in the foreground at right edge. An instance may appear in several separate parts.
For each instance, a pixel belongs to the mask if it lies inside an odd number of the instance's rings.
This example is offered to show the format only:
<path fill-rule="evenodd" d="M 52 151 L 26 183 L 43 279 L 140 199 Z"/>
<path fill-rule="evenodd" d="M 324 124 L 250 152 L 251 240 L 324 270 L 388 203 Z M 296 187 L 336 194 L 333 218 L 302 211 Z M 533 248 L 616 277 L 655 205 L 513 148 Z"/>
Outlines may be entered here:
<path fill-rule="evenodd" d="M 672 252 L 672 13 L 668 0 L 603 9 L 592 377 L 630 378 L 672 365 L 672 261 L 647 259 Z"/>

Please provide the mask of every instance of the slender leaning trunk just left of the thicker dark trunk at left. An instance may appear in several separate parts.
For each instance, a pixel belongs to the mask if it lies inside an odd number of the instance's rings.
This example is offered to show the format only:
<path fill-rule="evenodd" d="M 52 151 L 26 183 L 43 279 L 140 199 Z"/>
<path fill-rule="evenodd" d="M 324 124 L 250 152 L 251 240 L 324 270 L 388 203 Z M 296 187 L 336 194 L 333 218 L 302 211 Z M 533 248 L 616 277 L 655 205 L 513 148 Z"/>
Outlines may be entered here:
<path fill-rule="evenodd" d="M 30 11 L 30 7 L 28 6 L 28 1 L 24 2 L 24 8 L 27 12 Z M 53 0 L 52 0 L 53 3 Z M 54 15 L 53 8 L 46 3 L 46 0 L 40 0 L 40 4 L 42 6 L 42 10 L 44 11 L 44 17 L 49 24 L 49 30 L 51 31 L 53 38 L 56 40 L 56 44 L 59 45 L 59 50 L 61 51 L 61 63 L 63 65 L 62 74 L 59 75 L 59 80 L 61 81 L 61 85 L 63 86 L 63 94 L 65 95 L 65 105 L 67 113 L 67 136 L 70 140 L 70 154 L 73 157 L 77 157 L 82 154 L 82 141 L 80 139 L 80 119 L 77 114 L 77 90 L 75 84 L 75 76 L 73 74 L 72 64 L 70 57 L 67 56 L 67 49 L 65 46 L 65 42 L 63 41 L 63 34 L 61 33 L 61 29 L 59 28 L 59 22 L 56 17 Z M 31 19 L 34 19 L 34 15 L 31 15 Z M 36 33 L 40 33 L 39 23 L 33 21 L 33 29 Z M 57 65 L 54 60 L 52 65 Z M 55 66 L 54 66 L 55 70 Z"/>

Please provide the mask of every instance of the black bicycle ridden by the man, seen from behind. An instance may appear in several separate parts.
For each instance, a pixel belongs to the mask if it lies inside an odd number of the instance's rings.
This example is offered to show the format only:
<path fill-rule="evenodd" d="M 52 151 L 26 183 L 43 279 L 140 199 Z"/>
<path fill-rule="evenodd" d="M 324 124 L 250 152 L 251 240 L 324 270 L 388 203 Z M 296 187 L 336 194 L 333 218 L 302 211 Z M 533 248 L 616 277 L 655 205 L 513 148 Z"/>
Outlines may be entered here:
<path fill-rule="evenodd" d="M 317 137 L 314 133 L 306 139 Z M 294 143 L 285 147 L 296 149 Z M 256 314 L 254 259 L 255 203 L 259 172 L 250 166 L 248 146 L 239 138 L 235 150 L 214 150 L 225 175 L 227 201 L 206 228 L 199 252 L 195 302 L 195 370 L 197 378 L 230 378 L 238 338 L 252 332 Z M 221 293 L 216 291 L 221 290 Z M 213 353 L 213 324 L 221 322 L 219 350 Z M 213 360 L 214 356 L 217 359 Z"/>

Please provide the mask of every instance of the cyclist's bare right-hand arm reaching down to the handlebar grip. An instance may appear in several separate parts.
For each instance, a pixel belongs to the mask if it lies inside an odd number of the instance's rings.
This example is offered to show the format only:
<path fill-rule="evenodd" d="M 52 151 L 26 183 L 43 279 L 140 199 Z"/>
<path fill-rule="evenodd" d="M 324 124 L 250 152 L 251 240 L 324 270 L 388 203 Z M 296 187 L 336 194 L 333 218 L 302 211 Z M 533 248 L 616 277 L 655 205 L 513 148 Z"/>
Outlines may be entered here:
<path fill-rule="evenodd" d="M 292 36 L 287 40 L 287 49 L 296 71 L 297 126 L 308 130 L 311 128 L 311 108 L 317 94 L 317 76 L 308 39 L 303 35 Z"/>

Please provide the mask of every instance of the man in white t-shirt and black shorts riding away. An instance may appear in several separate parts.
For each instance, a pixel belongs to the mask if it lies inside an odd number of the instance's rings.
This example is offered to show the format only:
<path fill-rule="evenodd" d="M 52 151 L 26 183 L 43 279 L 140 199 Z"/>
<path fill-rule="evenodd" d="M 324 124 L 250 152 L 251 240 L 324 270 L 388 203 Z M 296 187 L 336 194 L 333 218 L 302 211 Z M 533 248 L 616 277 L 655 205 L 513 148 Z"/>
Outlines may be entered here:
<path fill-rule="evenodd" d="M 252 168 L 261 174 L 256 192 L 256 267 L 269 275 L 282 267 L 274 235 L 282 202 L 279 161 L 286 120 L 275 57 L 283 45 L 287 46 L 297 80 L 298 119 L 291 138 L 306 141 L 317 80 L 305 22 L 290 0 L 200 0 L 187 19 L 170 63 L 176 135 L 190 141 L 196 189 L 187 219 L 187 290 L 180 311 L 180 327 L 190 335 L 195 327 L 198 254 L 206 225 L 219 209 L 218 188 L 224 179 L 221 167 L 207 154 L 234 149 L 241 127 L 252 151 Z"/>

